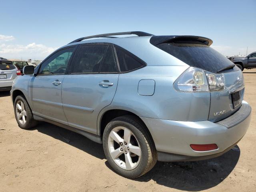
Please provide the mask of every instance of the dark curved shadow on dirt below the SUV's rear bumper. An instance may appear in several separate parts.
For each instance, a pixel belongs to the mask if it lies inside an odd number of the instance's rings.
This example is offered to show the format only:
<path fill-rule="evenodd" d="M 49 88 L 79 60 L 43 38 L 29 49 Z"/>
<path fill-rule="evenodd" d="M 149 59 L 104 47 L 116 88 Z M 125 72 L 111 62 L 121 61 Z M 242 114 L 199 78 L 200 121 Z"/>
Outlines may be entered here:
<path fill-rule="evenodd" d="M 206 190 L 220 184 L 232 172 L 240 156 L 239 147 L 235 147 L 236 151 L 230 150 L 222 156 L 209 160 L 157 162 L 150 172 L 135 180 L 139 182 L 153 180 L 156 184 L 178 190 Z M 107 161 L 105 164 L 113 170 Z"/>

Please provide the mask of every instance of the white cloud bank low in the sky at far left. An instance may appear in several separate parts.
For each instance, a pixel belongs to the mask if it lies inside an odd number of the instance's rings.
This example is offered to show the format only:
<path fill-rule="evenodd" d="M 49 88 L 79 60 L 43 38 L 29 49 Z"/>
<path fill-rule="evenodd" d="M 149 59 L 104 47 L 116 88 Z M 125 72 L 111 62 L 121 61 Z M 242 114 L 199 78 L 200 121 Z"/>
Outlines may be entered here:
<path fill-rule="evenodd" d="M 0 35 L 1 41 L 13 40 L 13 36 Z M 44 59 L 50 53 L 52 53 L 56 48 L 48 47 L 42 44 L 36 44 L 35 42 L 28 45 L 19 44 L 0 44 L 0 56 L 8 59 Z"/>

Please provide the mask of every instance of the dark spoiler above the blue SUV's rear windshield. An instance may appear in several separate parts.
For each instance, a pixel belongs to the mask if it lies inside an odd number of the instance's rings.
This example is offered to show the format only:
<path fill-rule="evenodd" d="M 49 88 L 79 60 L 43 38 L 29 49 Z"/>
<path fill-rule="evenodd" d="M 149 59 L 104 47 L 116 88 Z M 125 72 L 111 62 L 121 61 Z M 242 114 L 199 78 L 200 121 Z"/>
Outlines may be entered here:
<path fill-rule="evenodd" d="M 179 43 L 200 43 L 210 46 L 212 44 L 212 40 L 206 37 L 200 36 L 152 36 L 150 38 L 150 43 L 154 46 L 160 43 L 170 43 L 170 42 L 179 42 Z"/>

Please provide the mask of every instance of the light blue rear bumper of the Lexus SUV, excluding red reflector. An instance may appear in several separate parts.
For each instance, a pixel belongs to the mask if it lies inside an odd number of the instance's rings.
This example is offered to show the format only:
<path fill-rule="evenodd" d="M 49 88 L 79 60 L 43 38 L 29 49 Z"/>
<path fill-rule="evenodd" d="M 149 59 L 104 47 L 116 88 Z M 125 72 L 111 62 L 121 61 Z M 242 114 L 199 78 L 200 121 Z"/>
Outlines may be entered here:
<path fill-rule="evenodd" d="M 246 111 L 242 111 L 246 108 Z M 237 120 L 238 114 L 244 114 Z M 159 161 L 200 160 L 219 156 L 234 146 L 246 133 L 250 124 L 251 108 L 245 101 L 232 116 L 213 123 L 210 121 L 182 122 L 144 118 L 156 150 Z M 218 149 L 198 152 L 190 144 L 217 144 Z"/>

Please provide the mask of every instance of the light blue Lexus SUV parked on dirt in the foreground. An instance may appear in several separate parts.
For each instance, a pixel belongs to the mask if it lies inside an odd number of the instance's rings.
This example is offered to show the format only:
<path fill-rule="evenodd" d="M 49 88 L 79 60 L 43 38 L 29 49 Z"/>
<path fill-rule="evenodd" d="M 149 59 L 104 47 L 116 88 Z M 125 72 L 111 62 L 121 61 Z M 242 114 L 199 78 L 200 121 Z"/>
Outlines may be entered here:
<path fill-rule="evenodd" d="M 128 34 L 138 37 L 116 37 Z M 136 31 L 74 40 L 14 81 L 18 125 L 50 122 L 102 143 L 127 178 L 157 160 L 220 156 L 246 133 L 251 108 L 242 71 L 211 44 Z"/>

